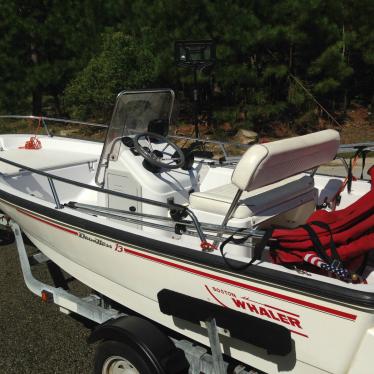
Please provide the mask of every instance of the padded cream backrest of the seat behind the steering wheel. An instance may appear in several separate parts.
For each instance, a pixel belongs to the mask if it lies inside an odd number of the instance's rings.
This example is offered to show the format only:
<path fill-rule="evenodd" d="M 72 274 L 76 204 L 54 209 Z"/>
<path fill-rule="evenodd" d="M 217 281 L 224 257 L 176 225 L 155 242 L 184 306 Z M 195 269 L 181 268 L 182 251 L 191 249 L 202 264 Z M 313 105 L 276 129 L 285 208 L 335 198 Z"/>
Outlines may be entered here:
<path fill-rule="evenodd" d="M 333 160 L 339 144 L 335 130 L 255 144 L 236 165 L 231 181 L 242 191 L 255 190 Z"/>

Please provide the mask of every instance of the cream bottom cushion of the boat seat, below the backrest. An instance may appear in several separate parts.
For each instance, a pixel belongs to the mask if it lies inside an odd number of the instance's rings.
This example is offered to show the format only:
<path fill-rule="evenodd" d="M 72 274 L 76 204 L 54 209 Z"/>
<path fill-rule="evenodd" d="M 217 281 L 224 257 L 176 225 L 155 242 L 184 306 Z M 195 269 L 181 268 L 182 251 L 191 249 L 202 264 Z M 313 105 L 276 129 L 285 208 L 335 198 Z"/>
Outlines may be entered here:
<path fill-rule="evenodd" d="M 299 174 L 250 192 L 243 192 L 233 218 L 252 217 L 309 192 L 313 187 L 312 177 Z M 190 208 L 225 215 L 237 191 L 238 188 L 230 183 L 204 192 L 194 192 L 190 195 Z"/>

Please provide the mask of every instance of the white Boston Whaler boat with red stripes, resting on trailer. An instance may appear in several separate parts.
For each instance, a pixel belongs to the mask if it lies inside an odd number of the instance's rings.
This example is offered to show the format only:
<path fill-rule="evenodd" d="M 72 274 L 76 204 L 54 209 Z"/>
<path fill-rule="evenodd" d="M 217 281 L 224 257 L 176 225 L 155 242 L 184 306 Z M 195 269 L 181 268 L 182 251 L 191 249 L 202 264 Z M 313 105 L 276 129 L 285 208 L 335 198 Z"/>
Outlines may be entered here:
<path fill-rule="evenodd" d="M 348 178 L 343 190 L 345 178 L 318 172 L 342 151 L 339 133 L 328 129 L 254 144 L 240 157 L 207 158 L 194 151 L 200 139 L 183 148 L 187 139 L 169 134 L 174 100 L 172 90 L 121 92 L 104 144 L 54 136 L 46 118 L 39 121 L 45 135 L 1 135 L 5 221 L 107 302 L 176 336 L 211 347 L 213 319 L 218 349 L 244 366 L 369 373 L 370 254 L 359 275 L 348 268 L 341 275 L 342 265 L 333 262 L 326 270 L 273 258 L 274 227 L 295 232 L 316 211 L 344 211 L 365 196 L 365 217 L 373 218 L 368 177 Z M 226 144 L 212 143 L 226 152 Z M 356 149 L 367 152 L 373 144 Z M 103 359 L 103 373 L 117 356 Z M 122 369 L 128 361 L 120 361 Z"/>

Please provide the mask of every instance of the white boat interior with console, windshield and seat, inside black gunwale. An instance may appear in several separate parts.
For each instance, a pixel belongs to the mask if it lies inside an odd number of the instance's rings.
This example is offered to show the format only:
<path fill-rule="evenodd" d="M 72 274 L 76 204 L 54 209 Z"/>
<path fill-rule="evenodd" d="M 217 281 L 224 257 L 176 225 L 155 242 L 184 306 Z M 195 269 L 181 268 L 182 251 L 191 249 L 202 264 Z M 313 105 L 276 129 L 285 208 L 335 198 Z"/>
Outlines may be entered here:
<path fill-rule="evenodd" d="M 104 144 L 40 135 L 40 149 L 25 149 L 30 134 L 1 136 L 1 188 L 73 216 L 89 215 L 95 222 L 196 251 L 202 250 L 202 241 L 212 249 L 244 229 L 253 236 L 242 244 L 229 243 L 225 255 L 246 263 L 262 230 L 304 224 L 341 187 L 344 178 L 316 173 L 339 149 L 336 131 L 256 144 L 236 164 L 192 159 L 193 152 L 182 151 L 167 136 L 173 101 L 171 91 L 121 93 Z M 353 182 L 350 193 L 342 192 L 338 209 L 369 190 L 368 180 Z M 210 253 L 221 256 L 218 250 Z M 266 251 L 254 266 L 374 292 L 370 262 L 365 284 L 297 272 L 273 264 Z"/>

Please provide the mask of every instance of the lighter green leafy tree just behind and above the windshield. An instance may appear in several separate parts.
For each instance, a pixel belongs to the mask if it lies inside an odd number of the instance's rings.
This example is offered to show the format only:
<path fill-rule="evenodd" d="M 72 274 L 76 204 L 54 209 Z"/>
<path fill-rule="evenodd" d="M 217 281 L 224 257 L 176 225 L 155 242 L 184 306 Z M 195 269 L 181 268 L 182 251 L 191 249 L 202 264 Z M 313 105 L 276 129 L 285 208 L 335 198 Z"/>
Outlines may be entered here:
<path fill-rule="evenodd" d="M 152 85 L 158 65 L 151 49 L 148 43 L 141 43 L 123 32 L 106 32 L 101 52 L 65 91 L 65 104 L 71 114 L 107 119 L 120 91 Z"/>

